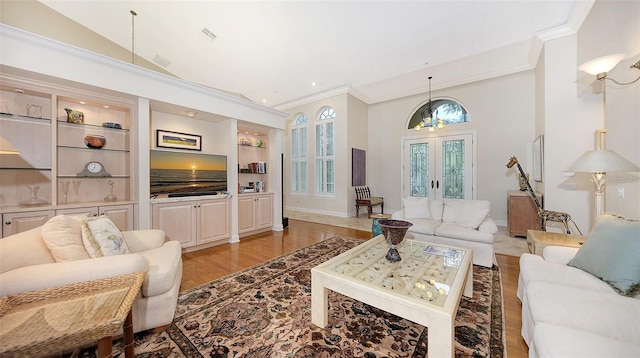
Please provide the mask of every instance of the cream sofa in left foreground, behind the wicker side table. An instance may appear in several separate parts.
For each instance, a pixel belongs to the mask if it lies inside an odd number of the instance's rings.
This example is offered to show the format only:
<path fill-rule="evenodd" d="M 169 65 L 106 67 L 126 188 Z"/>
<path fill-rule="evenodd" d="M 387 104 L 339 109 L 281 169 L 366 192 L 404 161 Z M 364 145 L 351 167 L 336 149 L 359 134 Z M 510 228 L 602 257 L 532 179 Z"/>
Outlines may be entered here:
<path fill-rule="evenodd" d="M 165 241 L 161 230 L 124 231 L 127 254 L 59 262 L 43 239 L 43 227 L 0 240 L 0 297 L 145 271 L 132 306 L 134 332 L 164 328 L 172 322 L 182 280 L 179 242 Z"/>

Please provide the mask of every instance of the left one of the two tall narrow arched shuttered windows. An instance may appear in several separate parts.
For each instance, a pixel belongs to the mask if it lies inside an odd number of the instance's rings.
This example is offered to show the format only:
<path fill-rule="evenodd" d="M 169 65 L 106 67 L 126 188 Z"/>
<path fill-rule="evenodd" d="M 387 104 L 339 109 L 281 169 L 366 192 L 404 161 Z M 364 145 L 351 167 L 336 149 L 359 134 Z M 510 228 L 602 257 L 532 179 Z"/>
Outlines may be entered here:
<path fill-rule="evenodd" d="M 291 191 L 307 192 L 307 116 L 300 113 L 291 129 Z"/>

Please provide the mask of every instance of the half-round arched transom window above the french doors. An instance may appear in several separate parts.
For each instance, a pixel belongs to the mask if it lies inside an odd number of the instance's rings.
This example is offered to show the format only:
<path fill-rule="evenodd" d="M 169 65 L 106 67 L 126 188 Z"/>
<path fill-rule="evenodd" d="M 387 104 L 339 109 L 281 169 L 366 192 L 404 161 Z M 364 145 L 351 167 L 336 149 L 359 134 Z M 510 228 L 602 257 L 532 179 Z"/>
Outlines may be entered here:
<path fill-rule="evenodd" d="M 409 120 L 407 129 L 416 129 L 416 126 L 442 128 L 451 124 L 469 122 L 469 113 L 458 102 L 452 99 L 434 99 L 431 101 L 433 115 L 429 117 L 429 102 L 416 110 Z"/>

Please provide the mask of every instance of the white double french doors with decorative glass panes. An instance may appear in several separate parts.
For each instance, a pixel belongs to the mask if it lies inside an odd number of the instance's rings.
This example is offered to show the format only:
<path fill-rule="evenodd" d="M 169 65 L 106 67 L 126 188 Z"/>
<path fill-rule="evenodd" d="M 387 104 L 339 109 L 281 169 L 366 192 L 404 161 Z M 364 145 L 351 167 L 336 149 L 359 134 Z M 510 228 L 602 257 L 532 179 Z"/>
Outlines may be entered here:
<path fill-rule="evenodd" d="M 473 133 L 403 140 L 403 197 L 474 199 Z"/>

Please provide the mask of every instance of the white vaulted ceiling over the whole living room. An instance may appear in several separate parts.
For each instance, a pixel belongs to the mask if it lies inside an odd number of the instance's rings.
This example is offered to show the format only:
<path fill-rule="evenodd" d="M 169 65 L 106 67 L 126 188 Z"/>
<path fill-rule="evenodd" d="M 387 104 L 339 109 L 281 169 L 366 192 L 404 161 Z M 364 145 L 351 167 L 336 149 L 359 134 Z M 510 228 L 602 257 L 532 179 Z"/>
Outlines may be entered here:
<path fill-rule="evenodd" d="M 593 0 L 41 1 L 184 80 L 286 108 L 368 103 L 530 69 Z M 130 13 L 133 10 L 137 16 Z M 207 28 L 217 37 L 202 34 Z M 132 31 L 134 30 L 134 31 Z M 157 62 L 156 62 L 157 63 Z M 312 82 L 316 82 L 313 86 Z"/>

